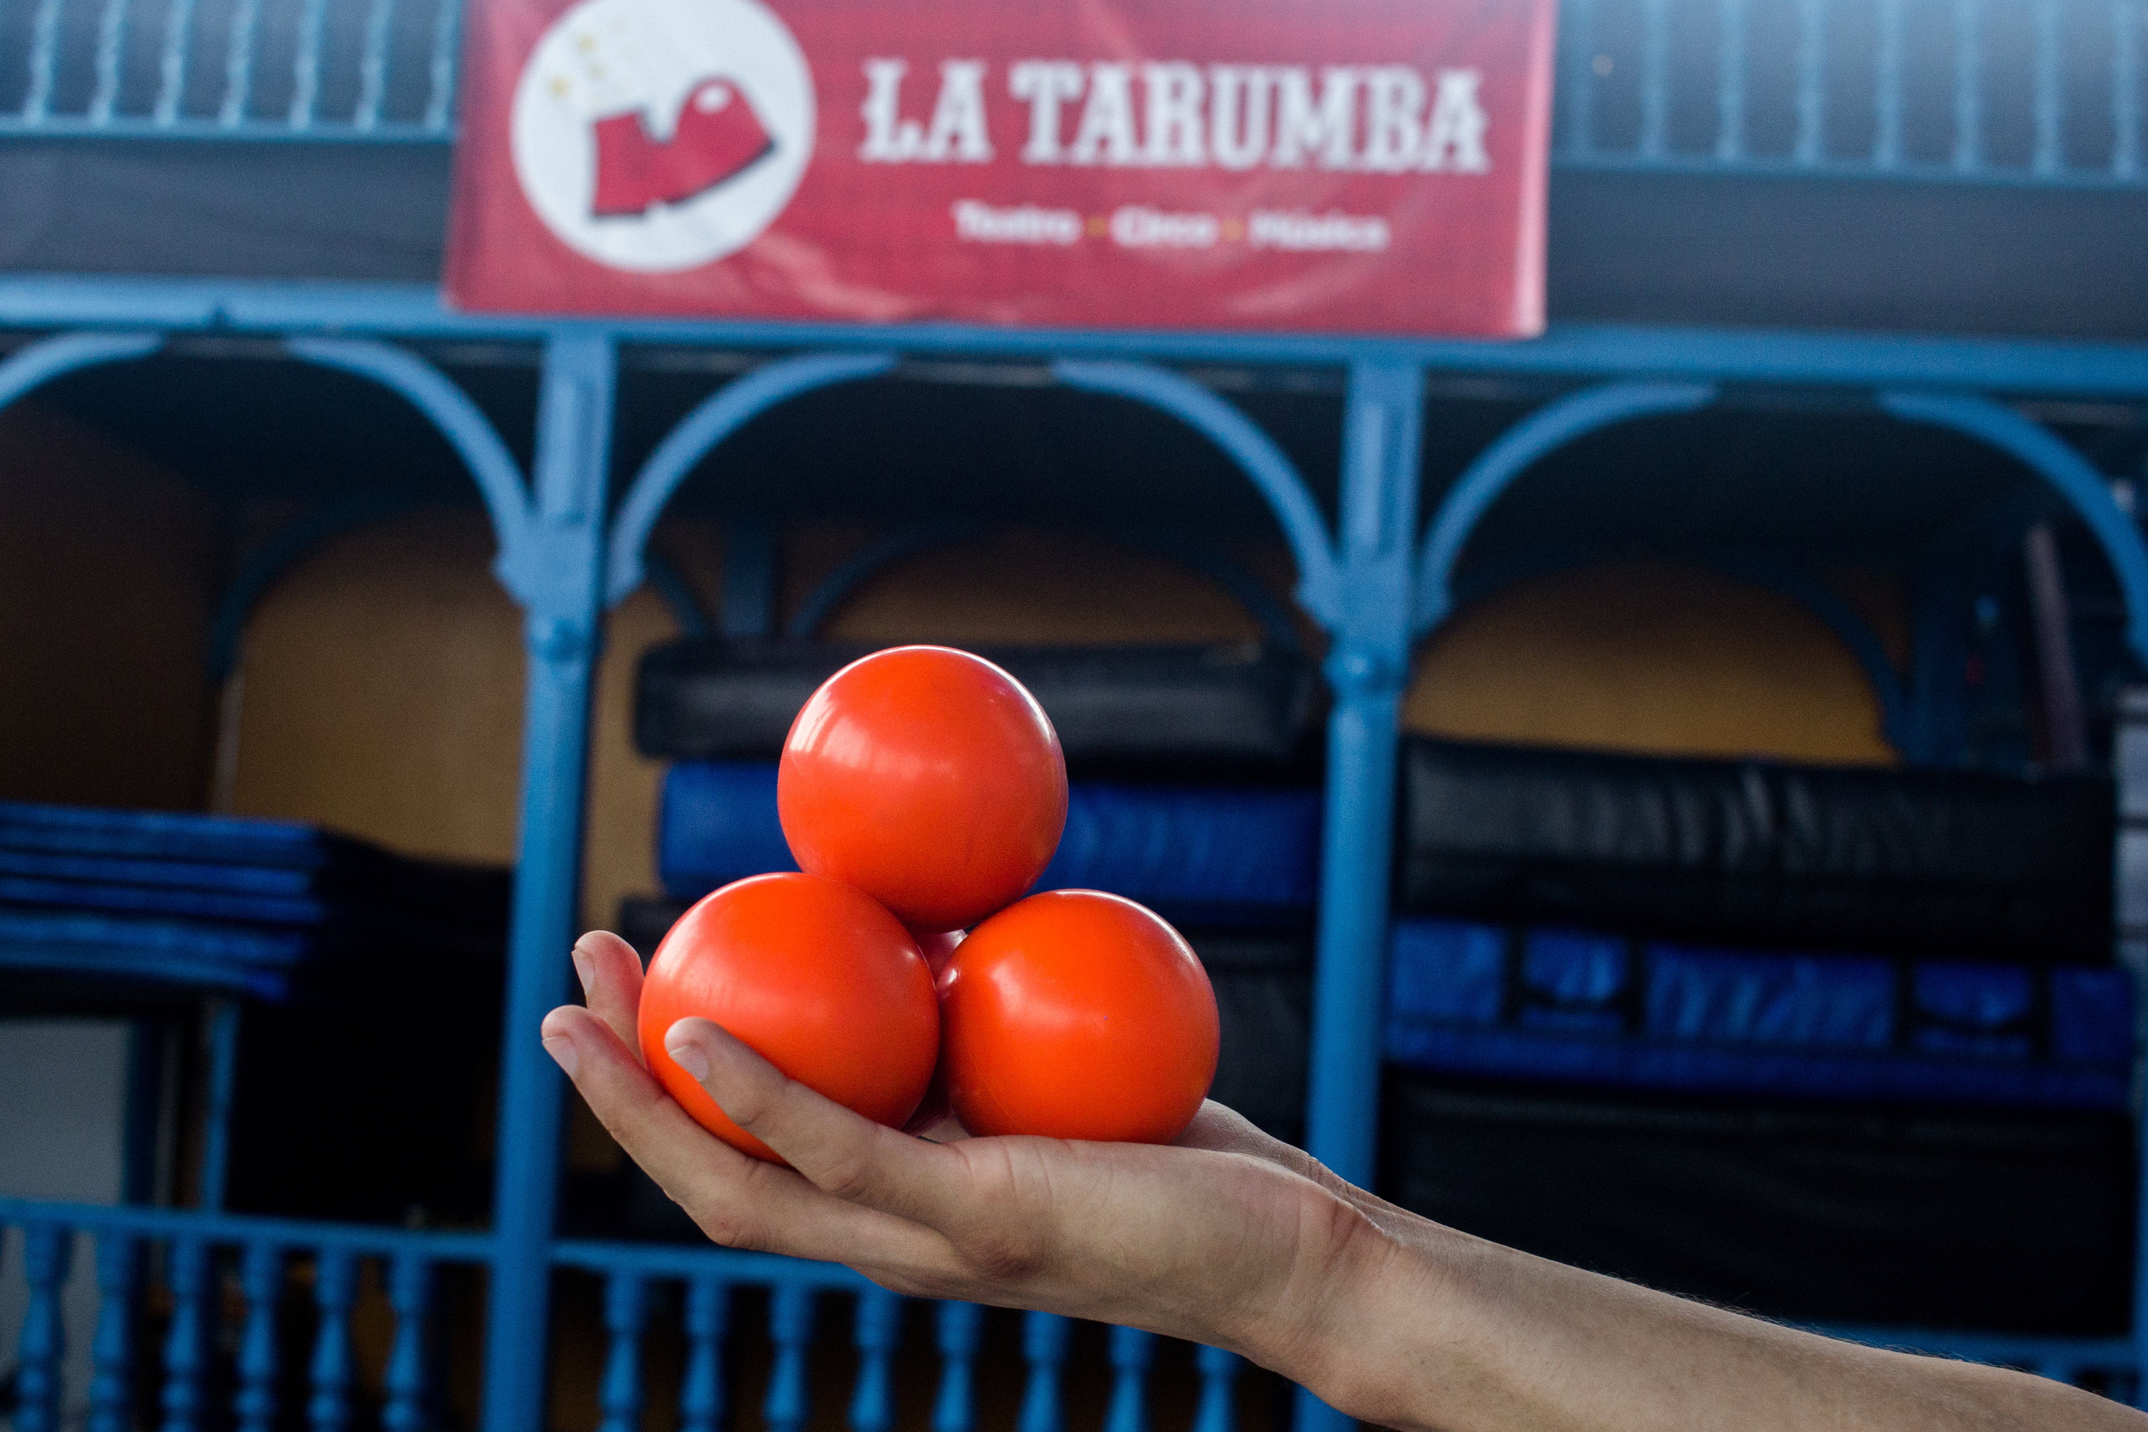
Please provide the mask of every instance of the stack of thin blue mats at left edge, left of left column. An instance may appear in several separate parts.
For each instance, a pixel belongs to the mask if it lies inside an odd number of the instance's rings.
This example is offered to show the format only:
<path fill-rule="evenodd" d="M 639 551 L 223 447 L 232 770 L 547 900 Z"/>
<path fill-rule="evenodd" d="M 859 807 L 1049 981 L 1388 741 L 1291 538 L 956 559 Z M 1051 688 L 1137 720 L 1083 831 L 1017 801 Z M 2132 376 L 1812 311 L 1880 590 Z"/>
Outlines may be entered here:
<path fill-rule="evenodd" d="M 509 874 L 316 827 L 0 803 L 0 970 L 73 990 L 393 998 L 496 981 Z"/>

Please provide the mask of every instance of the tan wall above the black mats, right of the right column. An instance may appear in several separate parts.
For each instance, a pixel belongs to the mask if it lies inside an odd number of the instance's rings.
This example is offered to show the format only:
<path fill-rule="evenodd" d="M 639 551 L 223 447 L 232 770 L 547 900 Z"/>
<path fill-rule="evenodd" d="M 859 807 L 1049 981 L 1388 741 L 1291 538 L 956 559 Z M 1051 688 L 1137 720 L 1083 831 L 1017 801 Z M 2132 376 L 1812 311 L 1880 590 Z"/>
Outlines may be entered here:
<path fill-rule="evenodd" d="M 1899 590 L 1837 590 L 1899 653 Z M 1422 734 L 1678 756 L 1892 762 L 1849 648 L 1800 603 L 1714 571 L 1607 562 L 1521 582 L 1418 653 Z"/>

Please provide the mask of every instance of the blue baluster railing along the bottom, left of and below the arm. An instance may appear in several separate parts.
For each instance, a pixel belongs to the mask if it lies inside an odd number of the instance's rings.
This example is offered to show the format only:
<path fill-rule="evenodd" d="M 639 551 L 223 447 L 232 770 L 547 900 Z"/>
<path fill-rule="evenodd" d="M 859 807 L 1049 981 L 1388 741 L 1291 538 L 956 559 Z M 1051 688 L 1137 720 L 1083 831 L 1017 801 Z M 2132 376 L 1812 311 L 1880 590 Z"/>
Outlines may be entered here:
<path fill-rule="evenodd" d="M 288 1426 L 292 1411 L 279 1408 L 279 1396 L 288 1396 L 292 1378 L 281 1368 L 281 1348 L 294 1312 L 290 1299 L 301 1288 L 309 1288 L 311 1301 L 296 1318 L 311 1327 L 299 1408 L 307 1428 L 346 1432 L 357 1421 L 357 1402 L 369 1398 L 378 1400 L 387 1432 L 425 1432 L 442 1423 L 436 1406 L 440 1340 L 432 1335 L 438 1273 L 442 1267 L 485 1267 L 494 1254 L 488 1234 L 0 1198 L 0 1234 L 6 1230 L 21 1234 L 15 1243 L 21 1262 L 19 1269 L 0 1267 L 0 1277 L 26 1284 L 13 1348 L 15 1432 L 58 1432 L 71 1391 L 64 1387 L 67 1346 L 84 1333 L 90 1376 L 88 1387 L 75 1391 L 86 1393 L 88 1432 L 140 1426 L 198 1432 L 226 1423 L 238 1432 L 268 1432 Z M 90 1329 L 71 1329 L 62 1292 L 82 1234 L 95 1250 L 97 1314 Z M 9 1241 L 0 1237 L 4 1247 Z M 367 1265 L 393 1316 L 393 1338 L 378 1380 L 361 1387 L 352 1312 Z M 659 1303 L 679 1310 L 685 1335 L 681 1432 L 732 1426 L 724 1368 L 728 1342 L 739 1331 L 730 1318 L 732 1292 L 741 1288 L 767 1290 L 771 1363 L 760 1419 L 769 1432 L 799 1432 L 812 1417 L 808 1359 L 823 1323 L 821 1295 L 842 1295 L 851 1307 L 857 1353 L 846 1408 L 851 1430 L 891 1432 L 896 1426 L 904 1299 L 848 1269 L 724 1247 L 597 1241 L 554 1243 L 552 1265 L 595 1273 L 604 1286 L 608 1348 L 597 1387 L 599 1432 L 642 1428 L 649 1404 L 644 1335 Z M 170 1310 L 153 1348 L 137 1346 L 150 1305 Z M 932 1318 L 939 1353 L 932 1432 L 973 1432 L 984 1310 L 937 1303 Z M 1074 1325 L 1037 1312 L 1022 1318 L 1025 1391 L 1016 1432 L 1063 1432 L 1061 1370 Z M 1156 1346 L 1153 1333 L 1111 1329 L 1104 1432 L 1145 1432 Z M 6 1361 L 0 1350 L 0 1365 Z M 150 1361 L 157 1376 L 144 1378 L 142 1363 Z M 537 1361 L 533 1355 L 533 1365 Z M 1239 1368 L 1229 1353 L 1194 1350 L 1201 1393 L 1192 1432 L 1231 1432 Z M 146 1385 L 157 1389 L 155 1406 L 135 1406 L 135 1389 Z"/>

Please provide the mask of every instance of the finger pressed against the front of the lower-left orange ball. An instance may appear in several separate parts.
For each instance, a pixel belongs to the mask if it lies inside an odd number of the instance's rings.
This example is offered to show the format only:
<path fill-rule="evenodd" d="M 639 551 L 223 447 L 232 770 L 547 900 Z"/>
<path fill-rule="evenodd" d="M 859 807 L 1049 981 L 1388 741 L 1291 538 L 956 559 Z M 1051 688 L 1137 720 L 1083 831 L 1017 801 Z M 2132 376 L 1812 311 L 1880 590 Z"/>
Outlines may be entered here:
<path fill-rule="evenodd" d="M 945 1228 L 960 1207 L 964 1164 L 786 1078 L 709 1020 L 679 1020 L 664 1050 L 732 1121 L 814 1187 L 844 1202 Z"/>

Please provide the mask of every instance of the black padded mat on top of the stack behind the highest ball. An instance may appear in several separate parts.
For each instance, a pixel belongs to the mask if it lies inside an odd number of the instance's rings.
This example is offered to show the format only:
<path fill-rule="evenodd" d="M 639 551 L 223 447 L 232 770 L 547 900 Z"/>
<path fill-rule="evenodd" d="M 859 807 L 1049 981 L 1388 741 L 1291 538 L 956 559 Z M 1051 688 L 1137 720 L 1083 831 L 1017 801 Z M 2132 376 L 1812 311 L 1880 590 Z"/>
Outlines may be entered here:
<path fill-rule="evenodd" d="M 634 743 L 670 760 L 773 760 L 790 719 L 868 644 L 700 638 L 642 655 Z M 1050 715 L 1074 771 L 1282 771 L 1319 734 L 1306 657 L 1209 646 L 979 646 Z"/>

